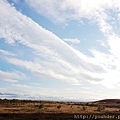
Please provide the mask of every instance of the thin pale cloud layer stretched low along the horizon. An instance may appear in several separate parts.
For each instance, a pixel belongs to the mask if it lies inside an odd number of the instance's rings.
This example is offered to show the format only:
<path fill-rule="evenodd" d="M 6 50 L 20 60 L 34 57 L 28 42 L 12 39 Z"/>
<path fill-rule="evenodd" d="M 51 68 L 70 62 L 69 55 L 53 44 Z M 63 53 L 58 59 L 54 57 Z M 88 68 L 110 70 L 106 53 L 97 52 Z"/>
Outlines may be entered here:
<path fill-rule="evenodd" d="M 24 88 L 24 89 L 23 89 Z M 12 83 L 11 85 L 7 86 L 6 89 L 0 88 L 2 93 L 14 93 L 16 98 L 20 99 L 48 99 L 48 100 L 56 100 L 57 97 L 61 98 L 62 100 L 93 100 L 93 99 L 103 99 L 103 98 L 112 98 L 113 96 L 108 95 L 107 93 L 103 93 L 101 90 L 95 92 L 92 88 L 83 89 L 81 91 L 76 91 L 72 88 L 66 88 L 61 90 L 55 90 L 54 88 L 45 88 L 45 87 L 33 87 L 26 84 L 16 84 Z M 31 92 L 30 92 L 31 91 Z M 82 96 L 81 96 L 82 94 Z M 63 97 L 65 96 L 65 97 Z M 97 96 L 95 98 L 94 96 Z M 6 96 L 9 98 L 9 96 Z"/>

